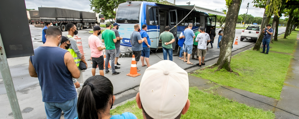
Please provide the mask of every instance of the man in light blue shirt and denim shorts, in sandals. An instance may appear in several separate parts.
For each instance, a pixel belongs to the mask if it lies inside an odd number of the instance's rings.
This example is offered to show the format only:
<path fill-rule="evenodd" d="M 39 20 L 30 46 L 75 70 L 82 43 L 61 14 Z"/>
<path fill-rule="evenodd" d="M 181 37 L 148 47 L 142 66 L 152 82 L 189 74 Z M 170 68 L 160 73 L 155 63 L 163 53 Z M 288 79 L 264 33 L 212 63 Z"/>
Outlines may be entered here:
<path fill-rule="evenodd" d="M 190 62 L 190 55 L 192 54 L 192 48 L 193 48 L 193 39 L 196 37 L 193 30 L 192 30 L 192 24 L 188 25 L 188 28 L 184 31 L 184 37 L 185 37 L 185 49 L 184 49 L 184 62 L 187 62 L 189 65 L 193 65 L 193 63 Z M 186 60 L 186 54 L 188 53 L 188 57 Z"/>

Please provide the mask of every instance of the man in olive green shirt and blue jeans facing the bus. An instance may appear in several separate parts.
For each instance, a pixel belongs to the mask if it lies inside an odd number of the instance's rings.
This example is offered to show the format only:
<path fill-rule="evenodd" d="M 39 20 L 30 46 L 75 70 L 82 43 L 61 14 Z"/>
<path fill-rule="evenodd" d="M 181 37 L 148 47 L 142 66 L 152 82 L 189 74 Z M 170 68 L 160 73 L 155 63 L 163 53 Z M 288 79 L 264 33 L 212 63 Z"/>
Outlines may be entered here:
<path fill-rule="evenodd" d="M 169 60 L 172 61 L 172 43 L 175 41 L 172 33 L 169 32 L 170 27 L 165 26 L 165 31 L 160 34 L 159 40 L 162 41 L 163 57 L 167 60 L 167 53 Z"/>

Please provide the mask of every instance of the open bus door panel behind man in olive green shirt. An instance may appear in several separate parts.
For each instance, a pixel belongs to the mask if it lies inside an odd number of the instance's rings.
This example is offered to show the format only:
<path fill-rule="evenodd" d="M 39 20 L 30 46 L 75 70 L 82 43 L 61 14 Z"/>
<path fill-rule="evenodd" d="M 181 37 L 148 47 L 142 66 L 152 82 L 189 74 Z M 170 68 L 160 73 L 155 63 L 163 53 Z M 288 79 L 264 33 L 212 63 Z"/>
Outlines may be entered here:
<path fill-rule="evenodd" d="M 178 27 L 175 27 L 176 24 L 178 23 L 178 20 L 177 20 L 177 11 L 176 10 L 169 10 L 169 26 L 170 26 L 170 32 L 173 34 L 174 36 L 174 42 L 172 43 L 172 49 L 175 50 L 176 49 L 176 42 L 177 42 L 177 39 L 176 39 L 176 33 L 177 33 L 177 29 Z M 173 28 L 174 27 L 174 28 Z M 173 29 L 172 29 L 173 28 Z"/>

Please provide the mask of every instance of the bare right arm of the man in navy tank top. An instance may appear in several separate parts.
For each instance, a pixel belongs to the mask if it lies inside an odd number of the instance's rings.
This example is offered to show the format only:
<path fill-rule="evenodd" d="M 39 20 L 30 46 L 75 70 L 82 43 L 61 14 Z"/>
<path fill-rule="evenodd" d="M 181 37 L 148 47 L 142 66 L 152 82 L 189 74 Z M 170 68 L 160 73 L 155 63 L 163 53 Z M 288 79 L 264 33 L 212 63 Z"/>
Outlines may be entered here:
<path fill-rule="evenodd" d="M 70 52 L 66 52 L 64 55 L 64 63 L 68 68 L 68 71 L 71 72 L 73 78 L 78 79 L 80 77 L 80 71 L 75 64 L 74 58 Z"/>

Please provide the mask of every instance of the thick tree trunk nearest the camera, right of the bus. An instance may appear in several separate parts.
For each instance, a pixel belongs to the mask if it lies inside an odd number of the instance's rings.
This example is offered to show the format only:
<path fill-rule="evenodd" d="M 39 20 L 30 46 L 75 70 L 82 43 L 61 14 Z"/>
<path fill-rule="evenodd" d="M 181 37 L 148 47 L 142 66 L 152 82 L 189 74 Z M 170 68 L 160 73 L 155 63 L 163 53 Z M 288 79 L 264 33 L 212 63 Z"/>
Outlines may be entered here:
<path fill-rule="evenodd" d="M 232 0 L 231 5 L 228 7 L 228 14 L 226 14 L 225 21 L 230 22 L 225 24 L 219 59 L 215 64 L 218 65 L 218 69 L 216 71 L 225 69 L 226 71 L 233 72 L 233 70 L 231 69 L 231 47 L 233 46 L 235 38 L 236 24 L 241 2 L 241 0 Z"/>

